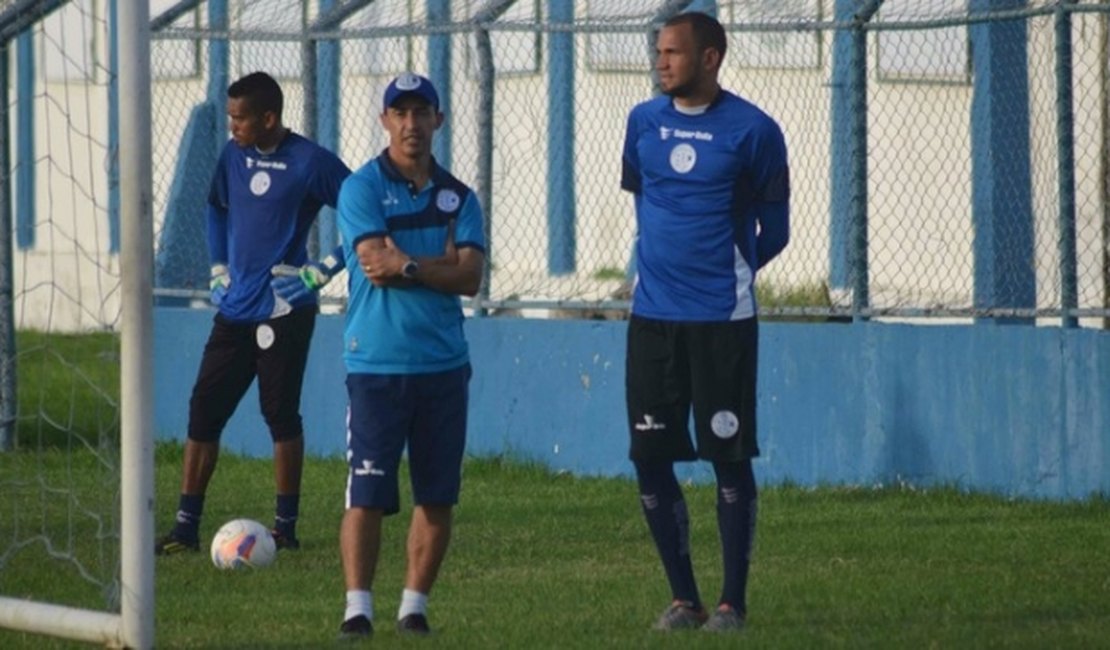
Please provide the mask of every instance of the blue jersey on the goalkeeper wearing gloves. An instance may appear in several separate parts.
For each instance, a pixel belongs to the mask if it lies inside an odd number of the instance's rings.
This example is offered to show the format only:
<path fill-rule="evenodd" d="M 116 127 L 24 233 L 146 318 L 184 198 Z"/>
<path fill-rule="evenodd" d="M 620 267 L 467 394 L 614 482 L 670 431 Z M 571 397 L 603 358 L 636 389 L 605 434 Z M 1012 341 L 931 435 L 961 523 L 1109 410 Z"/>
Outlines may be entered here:
<path fill-rule="evenodd" d="M 274 312 L 270 270 L 302 266 L 305 243 L 321 206 L 334 207 L 351 174 L 334 153 L 292 131 L 272 153 L 229 140 L 209 191 L 209 255 L 231 275 L 220 313 L 236 323 L 265 321 Z M 313 304 L 314 294 L 302 304 Z"/>

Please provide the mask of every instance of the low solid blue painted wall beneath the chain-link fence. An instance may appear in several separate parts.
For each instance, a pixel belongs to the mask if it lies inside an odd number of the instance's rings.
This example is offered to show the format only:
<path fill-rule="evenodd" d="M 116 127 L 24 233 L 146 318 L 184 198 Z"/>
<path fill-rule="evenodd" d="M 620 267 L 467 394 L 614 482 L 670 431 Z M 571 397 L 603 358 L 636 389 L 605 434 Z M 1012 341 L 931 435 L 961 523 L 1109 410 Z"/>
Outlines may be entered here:
<path fill-rule="evenodd" d="M 155 311 L 155 425 L 184 437 L 212 312 Z M 619 322 L 477 318 L 470 451 L 628 475 Z M 305 377 L 307 448 L 341 456 L 342 317 L 321 316 Z M 1110 494 L 1110 333 L 992 324 L 765 323 L 761 483 L 906 480 L 1038 498 Z M 226 448 L 269 456 L 248 393 Z M 683 464 L 708 480 L 706 464 Z"/>

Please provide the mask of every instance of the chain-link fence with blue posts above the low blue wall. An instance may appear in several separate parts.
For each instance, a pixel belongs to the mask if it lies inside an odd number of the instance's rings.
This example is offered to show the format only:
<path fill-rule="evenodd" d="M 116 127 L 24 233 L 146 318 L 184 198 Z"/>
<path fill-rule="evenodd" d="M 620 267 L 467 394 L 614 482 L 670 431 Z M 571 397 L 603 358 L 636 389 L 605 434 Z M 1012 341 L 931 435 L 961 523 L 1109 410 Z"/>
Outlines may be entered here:
<path fill-rule="evenodd" d="M 1110 316 L 1110 6 L 1047 0 L 180 2 L 152 34 L 160 294 L 206 287 L 231 80 L 275 75 L 286 124 L 356 167 L 386 145 L 384 85 L 414 70 L 445 98 L 436 158 L 486 210 L 478 313 L 619 313 L 625 120 L 684 9 L 716 12 L 722 84 L 786 133 L 793 240 L 760 273 L 765 314 Z M 325 214 L 320 250 L 334 237 Z"/>

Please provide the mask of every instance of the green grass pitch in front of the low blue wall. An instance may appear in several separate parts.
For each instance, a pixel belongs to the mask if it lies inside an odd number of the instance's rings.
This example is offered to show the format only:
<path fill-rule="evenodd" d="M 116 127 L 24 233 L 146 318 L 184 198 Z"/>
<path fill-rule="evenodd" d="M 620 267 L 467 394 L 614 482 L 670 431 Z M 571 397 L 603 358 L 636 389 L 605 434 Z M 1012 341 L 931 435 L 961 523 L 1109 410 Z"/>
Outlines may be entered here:
<path fill-rule="evenodd" d="M 181 448 L 157 453 L 157 528 L 176 502 Z M 41 473 L 82 495 L 110 489 L 97 463 L 62 454 L 0 456 L 0 475 Z M 75 470 L 74 470 L 75 469 Z M 84 471 L 84 469 L 93 469 Z M 269 460 L 224 456 L 205 511 L 270 521 Z M 343 583 L 336 532 L 344 466 L 314 459 L 304 480 L 303 548 L 269 569 L 222 572 L 206 553 L 157 559 L 159 648 L 320 648 L 333 644 Z M 38 494 L 30 489 L 29 492 Z M 712 486 L 687 489 L 707 600 L 720 586 Z M 41 501 L 41 499 L 39 500 Z M 4 499 L 4 520 L 12 510 Z M 95 527 L 29 499 L 18 520 L 56 527 L 61 546 L 98 561 Z M 668 600 L 630 480 L 574 478 L 471 459 L 456 534 L 431 600 L 436 633 L 398 638 L 404 515 L 386 521 L 373 644 L 428 648 L 725 648 L 735 638 L 660 636 L 648 627 Z M 7 539 L 8 534 L 3 535 Z M 0 552 L 3 552 L 0 547 Z M 97 607 L 102 595 L 67 560 L 31 546 L 0 567 L 0 593 Z M 100 557 L 110 562 L 111 558 Z M 749 585 L 754 648 L 1097 648 L 1110 639 L 1110 502 L 1010 501 L 953 490 L 817 490 L 760 495 Z M 78 643 L 0 631 L 0 648 Z"/>

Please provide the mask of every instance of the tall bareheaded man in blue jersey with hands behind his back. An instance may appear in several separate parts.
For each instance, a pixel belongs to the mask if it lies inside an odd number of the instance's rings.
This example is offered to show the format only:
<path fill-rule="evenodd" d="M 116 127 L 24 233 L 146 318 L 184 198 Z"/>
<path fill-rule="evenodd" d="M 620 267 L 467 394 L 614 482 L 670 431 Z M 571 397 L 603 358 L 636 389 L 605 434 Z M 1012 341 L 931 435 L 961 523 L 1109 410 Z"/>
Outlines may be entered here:
<path fill-rule="evenodd" d="M 636 207 L 626 402 L 640 505 L 672 603 L 655 629 L 740 630 L 756 522 L 756 272 L 789 237 L 778 124 L 720 88 L 726 38 L 709 16 L 656 41 L 664 94 L 632 110 L 620 185 Z M 688 422 L 693 409 L 694 440 Z M 712 612 L 689 555 L 678 460 L 713 463 L 724 587 Z"/>

